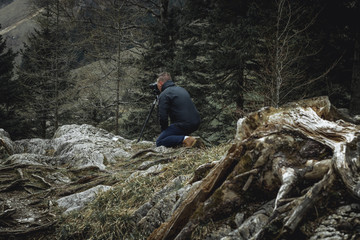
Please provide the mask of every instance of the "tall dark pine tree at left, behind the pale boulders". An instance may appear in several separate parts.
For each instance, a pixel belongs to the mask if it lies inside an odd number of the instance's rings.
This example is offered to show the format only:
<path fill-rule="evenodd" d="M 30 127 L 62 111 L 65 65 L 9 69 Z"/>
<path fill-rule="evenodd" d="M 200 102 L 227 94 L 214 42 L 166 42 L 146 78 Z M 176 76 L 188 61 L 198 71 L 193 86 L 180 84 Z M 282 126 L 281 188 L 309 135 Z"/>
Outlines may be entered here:
<path fill-rule="evenodd" d="M 56 130 L 60 121 L 60 106 L 68 99 L 65 90 L 74 53 L 68 43 L 65 25 L 61 22 L 58 0 L 46 1 L 36 30 L 22 51 L 20 79 L 26 111 L 35 119 L 37 134 L 47 137 L 47 129 Z"/>

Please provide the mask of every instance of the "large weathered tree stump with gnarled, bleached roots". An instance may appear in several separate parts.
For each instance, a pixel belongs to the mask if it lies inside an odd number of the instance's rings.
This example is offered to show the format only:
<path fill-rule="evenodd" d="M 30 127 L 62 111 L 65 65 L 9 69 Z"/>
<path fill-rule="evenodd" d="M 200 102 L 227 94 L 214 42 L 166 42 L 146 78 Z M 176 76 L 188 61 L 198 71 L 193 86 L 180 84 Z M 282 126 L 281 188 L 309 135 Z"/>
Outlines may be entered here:
<path fill-rule="evenodd" d="M 335 182 L 358 201 L 360 128 L 340 117 L 319 97 L 240 119 L 227 154 L 148 240 L 189 239 L 199 225 L 234 215 L 248 201 L 273 206 L 247 237 L 280 239 L 299 228 Z"/>

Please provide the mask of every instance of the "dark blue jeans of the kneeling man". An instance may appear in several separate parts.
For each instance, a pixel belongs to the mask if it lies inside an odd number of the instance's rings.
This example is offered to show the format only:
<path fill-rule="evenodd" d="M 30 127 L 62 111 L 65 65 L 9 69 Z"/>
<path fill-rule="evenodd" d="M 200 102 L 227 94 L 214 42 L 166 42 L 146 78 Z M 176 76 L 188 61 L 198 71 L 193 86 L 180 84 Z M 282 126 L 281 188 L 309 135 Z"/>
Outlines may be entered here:
<path fill-rule="evenodd" d="M 185 132 L 171 124 L 167 129 L 162 131 L 156 140 L 156 146 L 175 147 L 182 144 Z"/>

